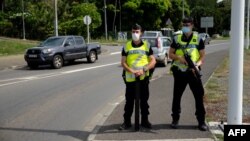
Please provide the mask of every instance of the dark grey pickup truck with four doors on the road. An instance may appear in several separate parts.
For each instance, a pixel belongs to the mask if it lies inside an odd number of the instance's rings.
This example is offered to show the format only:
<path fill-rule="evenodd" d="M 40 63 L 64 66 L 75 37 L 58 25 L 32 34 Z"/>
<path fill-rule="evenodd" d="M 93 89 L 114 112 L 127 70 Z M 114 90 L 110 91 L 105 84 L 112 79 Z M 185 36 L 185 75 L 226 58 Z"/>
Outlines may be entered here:
<path fill-rule="evenodd" d="M 76 59 L 87 58 L 89 63 L 94 63 L 100 53 L 98 43 L 86 44 L 82 36 L 52 36 L 37 47 L 27 49 L 24 59 L 31 69 L 41 64 L 51 64 L 59 69 L 65 61 Z"/>

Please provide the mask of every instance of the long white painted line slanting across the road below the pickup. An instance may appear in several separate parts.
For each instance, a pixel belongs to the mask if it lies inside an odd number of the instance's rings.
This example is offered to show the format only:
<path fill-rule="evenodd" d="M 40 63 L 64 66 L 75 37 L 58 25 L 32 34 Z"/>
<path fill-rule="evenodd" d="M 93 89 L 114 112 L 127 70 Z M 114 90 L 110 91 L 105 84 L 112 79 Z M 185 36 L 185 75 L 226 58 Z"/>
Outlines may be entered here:
<path fill-rule="evenodd" d="M 31 81 L 31 80 L 38 80 L 38 79 L 55 77 L 55 76 L 64 75 L 64 74 L 71 74 L 71 73 L 76 73 L 76 72 L 81 72 L 81 71 L 86 71 L 86 70 L 91 70 L 91 69 L 97 69 L 97 68 L 102 68 L 102 67 L 107 67 L 107 66 L 112 66 L 112 65 L 117 65 L 117 64 L 120 64 L 120 62 L 99 65 L 99 66 L 94 66 L 94 67 L 89 67 L 89 68 L 76 69 L 76 70 L 71 70 L 71 71 L 63 71 L 63 72 L 36 75 L 36 76 L 6 79 L 6 80 L 1 80 L 0 82 L 8 82 L 8 81 L 13 81 L 13 80 L 16 80 L 16 81 L 0 84 L 0 87 L 7 86 L 7 85 L 13 85 L 13 84 L 17 84 L 17 83 L 22 83 L 22 82 L 27 82 L 27 81 Z"/>

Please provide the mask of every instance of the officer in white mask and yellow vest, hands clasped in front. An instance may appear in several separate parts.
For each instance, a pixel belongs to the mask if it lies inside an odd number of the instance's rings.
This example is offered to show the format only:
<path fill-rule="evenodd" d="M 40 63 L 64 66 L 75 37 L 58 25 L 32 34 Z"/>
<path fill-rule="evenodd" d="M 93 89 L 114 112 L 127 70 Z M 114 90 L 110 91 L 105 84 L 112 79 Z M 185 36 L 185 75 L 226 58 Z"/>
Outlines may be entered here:
<path fill-rule="evenodd" d="M 148 42 L 140 39 L 142 28 L 135 24 L 132 27 L 132 41 L 126 43 L 122 50 L 121 65 L 125 70 L 126 103 L 124 107 L 124 122 L 120 130 L 131 127 L 131 116 L 134 108 L 136 77 L 140 78 L 141 126 L 151 128 L 149 115 L 149 70 L 155 66 L 153 51 Z"/>

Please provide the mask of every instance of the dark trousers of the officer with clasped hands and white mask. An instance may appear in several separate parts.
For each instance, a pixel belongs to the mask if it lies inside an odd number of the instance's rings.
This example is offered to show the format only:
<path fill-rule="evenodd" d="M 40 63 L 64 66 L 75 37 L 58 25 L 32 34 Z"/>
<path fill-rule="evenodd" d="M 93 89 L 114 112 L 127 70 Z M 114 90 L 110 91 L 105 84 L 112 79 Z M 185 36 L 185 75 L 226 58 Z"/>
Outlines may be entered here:
<path fill-rule="evenodd" d="M 141 108 L 141 115 L 142 119 L 148 118 L 149 115 L 149 105 L 148 105 L 148 98 L 149 98 L 149 78 L 146 77 L 144 80 L 140 81 L 140 108 Z M 124 107 L 124 120 L 125 122 L 131 121 L 131 116 L 134 110 L 134 101 L 135 101 L 135 94 L 136 94 L 136 82 L 128 82 L 126 83 L 126 103 Z"/>

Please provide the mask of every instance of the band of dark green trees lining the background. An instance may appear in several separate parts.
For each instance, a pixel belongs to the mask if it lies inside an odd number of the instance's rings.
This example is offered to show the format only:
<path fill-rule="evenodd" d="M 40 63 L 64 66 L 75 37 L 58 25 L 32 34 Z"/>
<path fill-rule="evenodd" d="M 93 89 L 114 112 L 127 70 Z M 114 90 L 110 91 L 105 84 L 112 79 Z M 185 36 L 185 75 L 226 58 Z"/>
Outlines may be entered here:
<path fill-rule="evenodd" d="M 83 17 L 89 15 L 92 39 L 117 37 L 118 32 L 129 32 L 135 23 L 144 30 L 181 28 L 182 12 L 192 16 L 195 30 L 205 32 L 201 17 L 213 17 L 210 35 L 226 34 L 230 29 L 231 0 L 57 0 L 58 34 L 87 37 Z M 0 36 L 44 40 L 54 35 L 54 1 L 51 0 L 0 0 Z M 104 8 L 105 7 L 105 8 Z M 182 11 L 183 10 L 183 11 Z M 106 11 L 106 16 L 105 16 Z M 22 18 L 24 17 L 24 19 Z M 105 18 L 107 17 L 107 18 Z M 145 22 L 146 20 L 146 22 Z M 169 22 L 167 22 L 169 21 Z"/>

